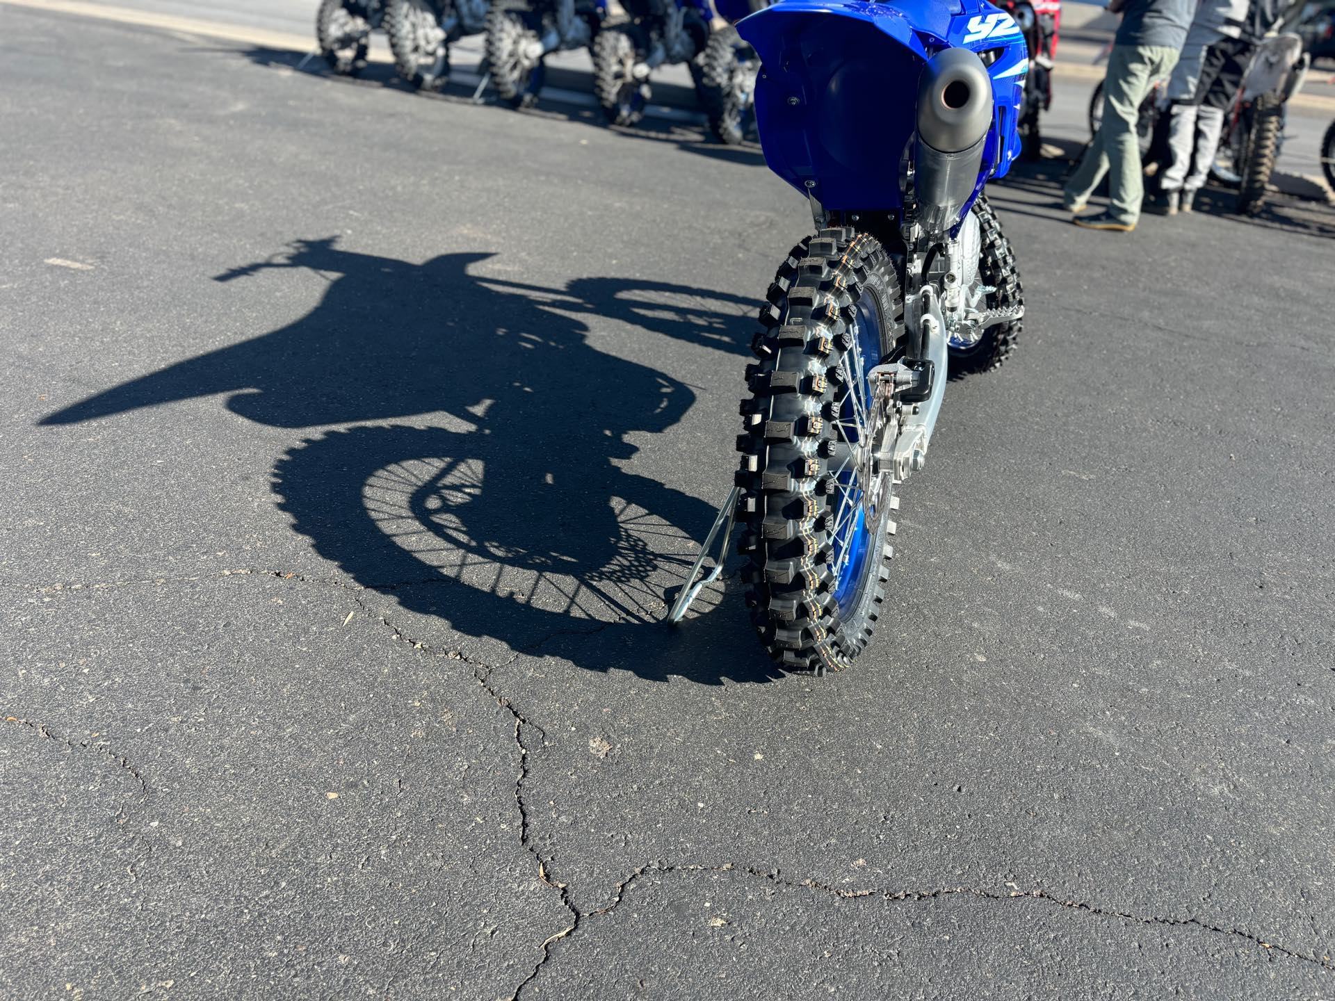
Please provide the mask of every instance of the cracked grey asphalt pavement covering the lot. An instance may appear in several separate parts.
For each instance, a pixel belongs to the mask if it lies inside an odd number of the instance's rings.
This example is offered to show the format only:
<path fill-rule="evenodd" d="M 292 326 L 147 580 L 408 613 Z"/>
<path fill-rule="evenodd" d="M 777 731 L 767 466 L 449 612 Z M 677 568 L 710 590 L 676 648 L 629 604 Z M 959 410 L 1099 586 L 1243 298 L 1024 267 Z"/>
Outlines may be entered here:
<path fill-rule="evenodd" d="M 1080 231 L 1067 81 L 1020 351 L 785 675 L 662 618 L 802 200 L 244 11 L 0 4 L 0 996 L 1335 996 L 1335 208 Z"/>

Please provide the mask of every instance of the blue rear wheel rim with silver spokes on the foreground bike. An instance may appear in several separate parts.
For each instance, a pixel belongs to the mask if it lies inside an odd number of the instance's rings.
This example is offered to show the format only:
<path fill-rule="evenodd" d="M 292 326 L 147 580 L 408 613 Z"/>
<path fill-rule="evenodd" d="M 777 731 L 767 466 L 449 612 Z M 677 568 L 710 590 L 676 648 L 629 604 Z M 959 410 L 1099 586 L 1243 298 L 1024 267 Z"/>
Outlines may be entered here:
<path fill-rule="evenodd" d="M 838 423 L 845 438 L 852 444 L 861 440 L 865 419 L 858 418 L 858 408 L 865 414 L 865 402 L 870 400 L 872 386 L 866 374 L 881 360 L 881 323 L 876 307 L 864 298 L 857 304 L 853 326 L 853 348 L 845 354 L 849 362 L 845 376 L 849 391 L 840 404 Z M 854 398 L 858 394 L 860 399 Z M 832 563 L 836 567 L 834 602 L 841 617 L 848 615 L 860 597 L 872 547 L 872 531 L 866 527 L 866 514 L 862 509 L 865 484 L 856 463 L 845 462 L 844 468 L 834 475 L 838 502 L 834 506 L 834 530 L 830 533 Z"/>

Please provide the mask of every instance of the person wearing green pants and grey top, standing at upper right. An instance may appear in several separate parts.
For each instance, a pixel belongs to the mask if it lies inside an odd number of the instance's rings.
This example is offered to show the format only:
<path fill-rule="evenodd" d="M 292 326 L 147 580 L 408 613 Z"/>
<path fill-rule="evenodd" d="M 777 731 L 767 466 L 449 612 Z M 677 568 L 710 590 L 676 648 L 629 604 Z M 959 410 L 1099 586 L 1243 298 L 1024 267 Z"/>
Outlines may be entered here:
<path fill-rule="evenodd" d="M 1067 182 L 1061 204 L 1075 212 L 1075 224 L 1087 230 L 1131 232 L 1140 219 L 1144 179 L 1136 120 L 1140 103 L 1156 80 L 1168 76 L 1187 40 L 1195 0 L 1112 0 L 1108 9 L 1123 12 L 1121 27 L 1108 56 L 1103 83 L 1103 123 Z M 1108 175 L 1108 208 L 1080 215 Z"/>

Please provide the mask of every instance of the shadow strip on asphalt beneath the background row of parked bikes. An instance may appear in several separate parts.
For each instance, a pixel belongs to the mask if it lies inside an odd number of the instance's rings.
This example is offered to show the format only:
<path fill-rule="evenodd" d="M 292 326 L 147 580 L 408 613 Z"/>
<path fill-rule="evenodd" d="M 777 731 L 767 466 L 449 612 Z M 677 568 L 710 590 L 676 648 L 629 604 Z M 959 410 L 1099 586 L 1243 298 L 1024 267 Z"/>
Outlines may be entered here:
<path fill-rule="evenodd" d="M 271 69 L 300 72 L 302 75 L 318 76 L 335 83 L 347 84 L 350 87 L 383 87 L 403 91 L 405 93 L 417 96 L 421 100 L 445 100 L 458 104 L 471 104 L 475 88 L 475 83 L 465 83 L 459 80 L 446 85 L 445 89 L 437 93 L 419 93 L 405 83 L 392 65 L 386 63 L 367 63 L 366 68 L 359 71 L 355 76 L 342 76 L 332 72 L 319 55 L 311 56 L 307 52 L 266 48 L 263 45 L 247 48 L 211 48 L 199 51 L 226 52 L 228 55 L 239 52 L 251 63 Z M 471 65 L 457 65 L 455 69 L 475 73 L 478 68 Z M 602 111 L 595 104 L 571 104 L 570 101 L 562 100 L 559 96 L 553 96 L 553 93 L 559 95 L 562 91 L 573 91 L 578 95 L 591 96 L 593 73 L 590 71 L 573 69 L 570 67 L 553 67 L 547 72 L 547 88 L 549 89 L 545 89 L 543 93 L 539 95 L 538 103 L 531 108 L 515 112 L 507 107 L 498 107 L 497 111 L 509 115 L 521 113 L 530 117 L 579 121 L 587 125 L 597 125 L 599 128 L 605 127 Z M 483 96 L 483 101 L 495 103 L 495 95 L 487 91 Z M 708 135 L 708 129 L 704 124 L 704 113 L 698 111 L 694 91 L 689 87 L 655 81 L 654 104 L 666 105 L 673 111 L 685 112 L 689 116 L 698 116 L 700 123 L 692 124 L 689 121 L 677 121 L 669 117 L 658 116 L 650 111 L 638 124 L 617 128 L 615 131 L 621 135 L 643 139 L 650 143 L 666 143 L 676 145 L 680 149 L 698 153 L 700 156 L 708 156 L 714 160 L 725 160 L 729 163 L 740 163 L 754 167 L 765 165 L 765 157 L 761 153 L 754 131 L 750 135 L 749 141 L 742 145 L 724 145 Z"/>

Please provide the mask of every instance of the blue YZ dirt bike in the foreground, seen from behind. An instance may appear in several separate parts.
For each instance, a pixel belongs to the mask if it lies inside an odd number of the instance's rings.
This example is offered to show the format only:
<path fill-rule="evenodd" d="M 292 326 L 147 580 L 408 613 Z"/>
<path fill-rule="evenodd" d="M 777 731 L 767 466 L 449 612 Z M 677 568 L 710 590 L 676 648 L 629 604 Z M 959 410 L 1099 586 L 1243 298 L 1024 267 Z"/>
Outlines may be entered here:
<path fill-rule="evenodd" d="M 1020 152 L 1029 57 L 980 0 L 780 0 L 737 29 L 761 59 L 765 159 L 817 234 L 760 312 L 733 511 L 761 642 L 824 674 L 882 611 L 896 491 L 947 374 L 1015 348 L 1020 279 L 983 187 Z"/>

